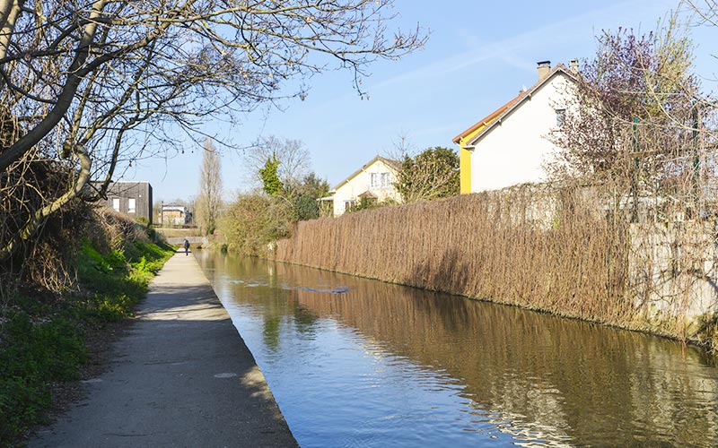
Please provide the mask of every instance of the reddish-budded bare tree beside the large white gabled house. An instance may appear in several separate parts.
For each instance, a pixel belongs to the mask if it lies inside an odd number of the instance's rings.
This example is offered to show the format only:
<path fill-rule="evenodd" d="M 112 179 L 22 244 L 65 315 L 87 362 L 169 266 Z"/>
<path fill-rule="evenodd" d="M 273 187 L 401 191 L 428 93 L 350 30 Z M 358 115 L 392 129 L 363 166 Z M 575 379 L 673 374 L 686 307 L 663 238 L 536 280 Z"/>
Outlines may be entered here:
<path fill-rule="evenodd" d="M 549 136 L 562 149 L 550 167 L 554 177 L 653 193 L 690 175 L 681 158 L 692 151 L 698 126 L 698 86 L 689 42 L 674 38 L 631 30 L 600 36 L 597 55 L 568 87 L 573 103 L 564 123 Z"/>

